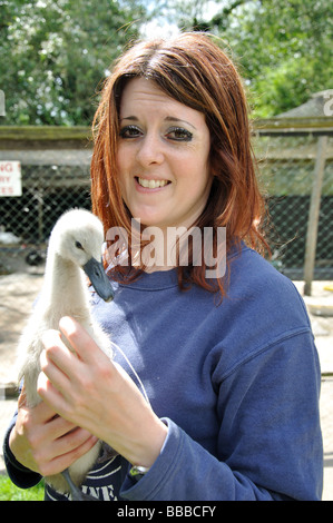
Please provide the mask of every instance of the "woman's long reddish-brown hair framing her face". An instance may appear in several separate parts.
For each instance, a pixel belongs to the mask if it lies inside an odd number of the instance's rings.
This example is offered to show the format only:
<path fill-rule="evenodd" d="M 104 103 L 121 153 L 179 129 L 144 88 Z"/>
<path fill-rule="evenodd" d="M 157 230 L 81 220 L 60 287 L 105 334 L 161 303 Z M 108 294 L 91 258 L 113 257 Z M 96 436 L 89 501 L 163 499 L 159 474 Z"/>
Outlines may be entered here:
<path fill-rule="evenodd" d="M 259 253 L 268 250 L 262 230 L 265 214 L 256 179 L 256 161 L 251 146 L 248 107 L 243 82 L 233 61 L 213 37 L 188 32 L 170 40 L 148 40 L 133 45 L 117 60 L 101 90 L 92 124 L 95 141 L 91 161 L 92 211 L 102 220 L 105 230 L 123 227 L 131 235 L 131 216 L 120 191 L 117 172 L 119 108 L 121 93 L 133 78 L 153 80 L 166 95 L 205 115 L 210 132 L 209 165 L 213 184 L 207 205 L 195 225 L 214 229 L 217 253 L 217 227 L 226 228 L 226 253 L 244 240 Z M 140 273 L 119 264 L 114 277 L 127 272 L 128 279 Z M 225 294 L 223 278 L 205 278 L 200 265 L 178 266 L 180 288 L 196 283 Z"/>

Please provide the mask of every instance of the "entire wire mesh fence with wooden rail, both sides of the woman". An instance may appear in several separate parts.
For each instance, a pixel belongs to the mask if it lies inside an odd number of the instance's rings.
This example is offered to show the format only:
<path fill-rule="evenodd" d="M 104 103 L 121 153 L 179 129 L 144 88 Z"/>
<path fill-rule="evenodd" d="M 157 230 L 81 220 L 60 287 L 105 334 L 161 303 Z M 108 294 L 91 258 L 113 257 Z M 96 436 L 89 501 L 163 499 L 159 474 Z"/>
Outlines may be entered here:
<path fill-rule="evenodd" d="M 316 184 L 317 136 L 259 132 L 254 148 L 268 197 L 272 263 L 304 279 L 311 197 Z M 57 218 L 72 207 L 90 208 L 91 149 L 0 150 L 0 160 L 21 162 L 22 195 L 0 197 L 0 273 L 41 264 Z M 325 149 L 314 279 L 333 279 L 333 137 Z M 12 236 L 10 236 L 12 235 Z"/>

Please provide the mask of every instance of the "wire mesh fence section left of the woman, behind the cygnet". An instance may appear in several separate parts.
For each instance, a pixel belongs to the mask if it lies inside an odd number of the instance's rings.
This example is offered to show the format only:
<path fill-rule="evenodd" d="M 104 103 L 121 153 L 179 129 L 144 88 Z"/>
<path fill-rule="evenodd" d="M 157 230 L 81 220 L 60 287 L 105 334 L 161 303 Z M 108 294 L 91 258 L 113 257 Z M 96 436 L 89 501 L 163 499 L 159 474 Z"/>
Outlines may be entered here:
<path fill-rule="evenodd" d="M 0 274 L 42 265 L 61 214 L 90 209 L 90 156 L 88 149 L 0 150 L 0 160 L 20 161 L 22 185 L 21 196 L 0 197 Z"/>

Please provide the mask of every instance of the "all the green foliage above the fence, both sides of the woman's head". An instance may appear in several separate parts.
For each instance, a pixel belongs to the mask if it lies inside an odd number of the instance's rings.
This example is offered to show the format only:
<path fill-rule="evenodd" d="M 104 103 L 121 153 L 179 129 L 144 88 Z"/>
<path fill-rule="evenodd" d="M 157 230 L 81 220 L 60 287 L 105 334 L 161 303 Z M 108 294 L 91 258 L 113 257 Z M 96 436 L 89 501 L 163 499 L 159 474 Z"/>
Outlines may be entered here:
<path fill-rule="evenodd" d="M 255 117 L 333 87 L 332 0 L 0 0 L 1 124 L 90 125 L 106 69 L 148 20 L 144 6 L 222 38 Z"/>

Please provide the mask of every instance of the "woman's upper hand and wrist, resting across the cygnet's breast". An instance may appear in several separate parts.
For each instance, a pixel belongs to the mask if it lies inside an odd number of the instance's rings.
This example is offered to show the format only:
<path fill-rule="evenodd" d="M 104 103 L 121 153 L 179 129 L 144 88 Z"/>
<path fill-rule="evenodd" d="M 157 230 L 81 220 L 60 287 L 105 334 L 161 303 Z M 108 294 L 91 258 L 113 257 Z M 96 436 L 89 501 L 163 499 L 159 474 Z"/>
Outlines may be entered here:
<path fill-rule="evenodd" d="M 50 408 L 75 426 L 108 443 L 130 463 L 151 466 L 167 434 L 128 374 L 111 362 L 72 318 L 61 333 L 43 336 L 38 393 Z"/>

